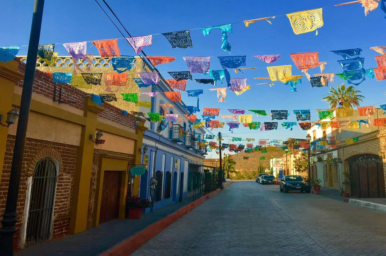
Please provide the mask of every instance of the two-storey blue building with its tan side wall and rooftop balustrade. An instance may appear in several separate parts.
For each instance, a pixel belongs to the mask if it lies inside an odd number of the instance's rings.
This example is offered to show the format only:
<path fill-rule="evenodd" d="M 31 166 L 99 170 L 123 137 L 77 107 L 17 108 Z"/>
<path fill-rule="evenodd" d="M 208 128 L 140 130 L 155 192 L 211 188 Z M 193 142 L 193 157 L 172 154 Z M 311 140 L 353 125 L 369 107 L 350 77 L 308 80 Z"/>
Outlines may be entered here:
<path fill-rule="evenodd" d="M 25 57 L 21 57 L 22 61 Z M 52 67 L 47 65 L 41 59 L 37 59 L 37 69 L 45 72 L 95 72 L 106 73 L 114 72 L 111 57 L 94 56 L 91 60 L 80 59 L 78 66 L 80 70 L 74 67 L 71 56 L 58 56 L 56 64 Z M 93 85 L 91 88 L 79 88 L 86 93 L 102 94 L 113 93 L 117 101 L 110 102 L 113 106 L 126 110 L 127 112 L 141 112 L 146 116 L 147 112 L 165 114 L 177 114 L 177 121 L 173 124 L 168 121 L 150 122 L 145 120 L 145 127 L 149 127 L 144 132 L 141 159 L 135 162 L 136 165 L 144 164 L 147 169 L 140 177 L 136 177 L 132 182 L 129 179 L 129 188 L 131 194 L 138 195 L 142 198 L 151 199 L 150 181 L 156 177 L 157 185 L 154 192 L 153 209 L 163 207 L 179 198 L 191 196 L 196 185 L 201 181 L 203 175 L 203 159 L 206 154 L 206 147 L 200 146 L 200 139 L 205 136 L 206 130 L 203 127 L 193 128 L 189 125 L 188 119 L 184 114 L 189 112 L 183 107 L 185 104 L 174 102 L 163 92 L 170 92 L 173 89 L 160 76 L 157 84 L 151 86 L 139 87 L 134 79 L 139 79 L 137 73 L 140 72 L 158 72 L 154 67 L 149 65 L 148 61 L 141 57 L 134 57 L 133 67 L 127 72 L 127 83 L 125 86 L 109 86 L 106 80 L 101 80 L 101 85 Z M 139 102 L 148 104 L 135 104 L 122 100 L 121 93 L 138 93 Z M 156 93 L 150 97 L 146 93 Z M 162 105 L 165 104 L 165 105 Z M 169 107 L 173 105 L 173 107 Z M 143 147 L 148 148 L 148 152 L 142 154 Z M 133 184 L 131 184 L 131 183 Z M 149 209 L 146 209 L 149 211 Z"/>

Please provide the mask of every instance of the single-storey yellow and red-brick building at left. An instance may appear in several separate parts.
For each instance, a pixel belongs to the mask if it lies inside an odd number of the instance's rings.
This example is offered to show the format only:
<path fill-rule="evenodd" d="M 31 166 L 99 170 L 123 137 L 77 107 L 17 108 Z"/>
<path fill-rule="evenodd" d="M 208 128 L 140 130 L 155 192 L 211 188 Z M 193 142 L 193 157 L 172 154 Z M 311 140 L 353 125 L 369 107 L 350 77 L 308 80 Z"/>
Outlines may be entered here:
<path fill-rule="evenodd" d="M 20 106 L 24 71 L 18 58 L 0 62 L 2 122 L 9 110 Z M 128 167 L 141 161 L 146 120 L 124 115 L 107 102 L 95 104 L 91 97 L 36 70 L 17 203 L 14 244 L 19 248 L 125 218 Z M 0 127 L 0 214 L 16 127 L 17 121 Z M 100 131 L 103 136 L 97 141 Z M 136 191 L 139 181 L 134 180 Z"/>

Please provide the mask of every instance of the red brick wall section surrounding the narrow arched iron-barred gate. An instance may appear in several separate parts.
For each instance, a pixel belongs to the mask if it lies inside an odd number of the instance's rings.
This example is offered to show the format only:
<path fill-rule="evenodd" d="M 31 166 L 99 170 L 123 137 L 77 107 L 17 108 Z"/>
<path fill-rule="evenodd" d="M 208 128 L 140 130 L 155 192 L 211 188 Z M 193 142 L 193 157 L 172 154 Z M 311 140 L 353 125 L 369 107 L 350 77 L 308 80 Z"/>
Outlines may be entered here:
<path fill-rule="evenodd" d="M 0 214 L 3 214 L 5 209 L 14 143 L 15 136 L 8 135 L 3 174 L 0 181 Z M 19 244 L 18 240 L 20 237 L 20 227 L 24 221 L 27 177 L 33 175 L 33 173 L 29 172 L 29 167 L 34 165 L 34 162 L 38 161 L 40 156 L 54 157 L 59 162 L 59 176 L 57 179 L 56 197 L 54 202 L 53 237 L 58 238 L 68 234 L 77 151 L 78 146 L 42 141 L 38 139 L 26 139 L 23 168 L 20 176 L 19 197 L 16 209 L 18 214 L 16 228 L 18 231 L 14 236 L 15 246 L 18 246 Z"/>

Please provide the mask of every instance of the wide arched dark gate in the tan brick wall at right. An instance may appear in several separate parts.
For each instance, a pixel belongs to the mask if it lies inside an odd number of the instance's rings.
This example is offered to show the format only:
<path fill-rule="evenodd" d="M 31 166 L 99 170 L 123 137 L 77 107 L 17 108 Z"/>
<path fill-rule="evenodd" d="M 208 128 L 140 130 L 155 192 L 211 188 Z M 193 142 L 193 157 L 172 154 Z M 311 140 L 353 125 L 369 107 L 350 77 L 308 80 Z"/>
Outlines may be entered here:
<path fill-rule="evenodd" d="M 351 196 L 385 197 L 382 159 L 375 154 L 359 154 L 348 159 Z"/>

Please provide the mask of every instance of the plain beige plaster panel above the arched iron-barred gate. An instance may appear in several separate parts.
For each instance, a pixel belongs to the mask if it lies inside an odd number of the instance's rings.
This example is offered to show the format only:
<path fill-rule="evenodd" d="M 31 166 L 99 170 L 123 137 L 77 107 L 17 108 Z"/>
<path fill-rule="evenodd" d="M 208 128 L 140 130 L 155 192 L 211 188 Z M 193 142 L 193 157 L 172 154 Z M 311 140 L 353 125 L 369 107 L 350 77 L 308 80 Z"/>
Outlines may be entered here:
<path fill-rule="evenodd" d="M 17 120 L 8 128 L 8 134 L 16 135 Z M 28 138 L 79 146 L 81 131 L 82 126 L 79 124 L 33 111 L 29 114 Z"/>

